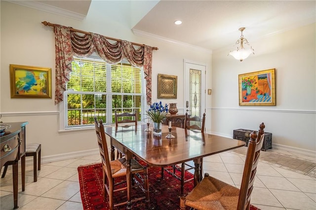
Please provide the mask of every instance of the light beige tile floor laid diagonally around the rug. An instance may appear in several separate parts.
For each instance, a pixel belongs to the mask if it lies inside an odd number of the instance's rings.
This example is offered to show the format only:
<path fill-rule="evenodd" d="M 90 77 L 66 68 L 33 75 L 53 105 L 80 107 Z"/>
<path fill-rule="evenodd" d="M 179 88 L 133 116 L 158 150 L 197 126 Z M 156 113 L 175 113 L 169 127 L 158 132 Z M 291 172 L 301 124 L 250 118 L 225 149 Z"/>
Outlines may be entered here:
<path fill-rule="evenodd" d="M 246 147 L 242 147 L 204 158 L 204 173 L 240 187 L 245 151 Z M 301 163 L 305 164 L 304 167 L 299 170 L 290 168 L 286 163 L 288 157 L 294 158 L 291 159 L 294 162 L 304 160 Z M 282 158 L 287 161 L 282 162 Z M 19 183 L 19 209 L 81 210 L 77 167 L 96 162 L 100 162 L 99 155 L 42 164 L 37 182 L 33 182 L 33 166 L 27 166 L 24 192 Z M 316 210 L 315 173 L 301 170 L 308 168 L 311 163 L 316 163 L 314 157 L 293 155 L 276 149 L 261 152 L 251 203 L 261 210 Z M 11 173 L 9 167 L 7 175 L 0 179 L 1 210 L 13 208 Z"/>

